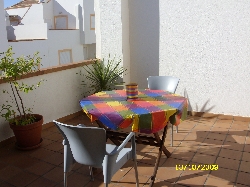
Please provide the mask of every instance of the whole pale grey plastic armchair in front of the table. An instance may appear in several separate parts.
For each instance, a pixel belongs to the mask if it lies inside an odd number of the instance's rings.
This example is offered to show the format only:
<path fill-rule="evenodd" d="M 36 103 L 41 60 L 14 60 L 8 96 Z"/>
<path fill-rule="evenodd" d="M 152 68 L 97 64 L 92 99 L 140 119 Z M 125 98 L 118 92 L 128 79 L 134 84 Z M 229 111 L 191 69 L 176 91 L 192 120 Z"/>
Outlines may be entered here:
<path fill-rule="evenodd" d="M 90 166 L 91 179 L 94 180 L 92 167 L 102 168 L 105 186 L 113 175 L 130 159 L 134 160 L 136 186 L 139 186 L 136 163 L 135 133 L 131 132 L 120 146 L 106 144 L 106 131 L 103 128 L 72 126 L 53 121 L 63 135 L 64 141 L 64 186 L 67 187 L 67 173 L 75 162 Z M 125 148 L 131 140 L 131 147 Z"/>

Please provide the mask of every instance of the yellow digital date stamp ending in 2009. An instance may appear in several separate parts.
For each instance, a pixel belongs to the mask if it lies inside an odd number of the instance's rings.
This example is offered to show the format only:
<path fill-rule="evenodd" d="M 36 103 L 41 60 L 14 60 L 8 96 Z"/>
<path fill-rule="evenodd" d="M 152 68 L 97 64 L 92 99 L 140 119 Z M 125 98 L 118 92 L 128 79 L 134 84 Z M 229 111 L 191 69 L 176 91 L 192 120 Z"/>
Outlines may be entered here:
<path fill-rule="evenodd" d="M 218 164 L 177 164 L 176 170 L 218 170 Z"/>

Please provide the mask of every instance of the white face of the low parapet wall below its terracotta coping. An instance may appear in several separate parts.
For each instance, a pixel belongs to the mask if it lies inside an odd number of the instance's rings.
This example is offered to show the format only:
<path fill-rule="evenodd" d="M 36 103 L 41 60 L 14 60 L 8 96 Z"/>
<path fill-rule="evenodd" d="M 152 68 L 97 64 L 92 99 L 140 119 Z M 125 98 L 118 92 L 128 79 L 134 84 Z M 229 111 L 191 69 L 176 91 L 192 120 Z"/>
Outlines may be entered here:
<path fill-rule="evenodd" d="M 80 70 L 81 67 L 24 79 L 27 84 L 35 84 L 40 79 L 46 80 L 36 90 L 22 94 L 24 105 L 33 108 L 33 113 L 43 115 L 44 123 L 80 111 L 79 100 L 86 91 L 80 85 L 82 76 L 76 74 Z M 1 92 L 3 89 L 10 90 L 10 86 L 7 83 L 0 84 Z M 8 95 L 1 94 L 0 106 L 7 99 Z M 13 133 L 8 123 L 0 117 L 0 142 L 11 136 Z"/>

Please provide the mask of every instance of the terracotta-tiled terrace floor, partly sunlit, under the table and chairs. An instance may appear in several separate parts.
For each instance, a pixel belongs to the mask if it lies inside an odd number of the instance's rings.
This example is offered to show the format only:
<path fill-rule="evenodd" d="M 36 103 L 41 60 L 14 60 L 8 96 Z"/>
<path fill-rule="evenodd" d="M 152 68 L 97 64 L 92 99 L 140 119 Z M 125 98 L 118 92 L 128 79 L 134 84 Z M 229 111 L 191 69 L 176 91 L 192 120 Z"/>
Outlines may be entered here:
<path fill-rule="evenodd" d="M 86 116 L 67 121 L 68 124 L 90 124 Z M 250 186 L 249 121 L 226 116 L 189 117 L 170 136 L 166 146 L 170 158 L 162 155 L 154 186 Z M 62 136 L 55 127 L 43 130 L 42 147 L 19 151 L 14 142 L 0 148 L 0 186 L 52 187 L 63 186 Z M 158 148 L 137 145 L 140 186 L 148 186 Z M 176 170 L 176 165 L 218 164 L 218 170 Z M 90 181 L 88 167 L 76 164 L 69 173 L 69 187 L 103 186 L 102 171 L 95 172 Z M 135 186 L 132 162 L 126 164 L 112 178 L 110 186 Z"/>

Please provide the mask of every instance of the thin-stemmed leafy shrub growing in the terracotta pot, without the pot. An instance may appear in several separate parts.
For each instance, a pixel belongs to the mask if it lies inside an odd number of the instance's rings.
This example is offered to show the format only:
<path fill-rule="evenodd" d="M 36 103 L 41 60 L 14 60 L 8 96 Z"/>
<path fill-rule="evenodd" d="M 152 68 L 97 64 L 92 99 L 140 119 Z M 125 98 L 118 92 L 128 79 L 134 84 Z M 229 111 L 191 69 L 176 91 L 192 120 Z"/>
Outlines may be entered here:
<path fill-rule="evenodd" d="M 15 125 L 28 125 L 35 122 L 35 117 L 31 115 L 31 108 L 24 107 L 23 99 L 20 92 L 29 93 L 40 86 L 41 81 L 36 85 L 27 85 L 20 82 L 22 76 L 38 71 L 41 63 L 41 58 L 36 52 L 33 56 L 20 56 L 13 58 L 12 47 L 9 47 L 6 52 L 0 53 L 0 71 L 1 78 L 9 83 L 11 91 L 3 90 L 10 97 L 10 101 L 6 101 L 2 105 L 0 114 L 6 121 Z"/>

